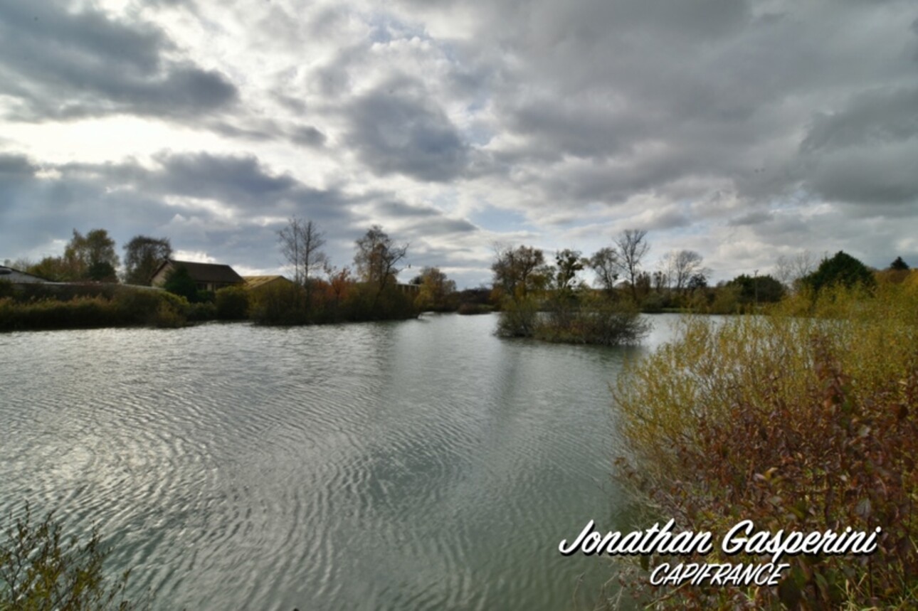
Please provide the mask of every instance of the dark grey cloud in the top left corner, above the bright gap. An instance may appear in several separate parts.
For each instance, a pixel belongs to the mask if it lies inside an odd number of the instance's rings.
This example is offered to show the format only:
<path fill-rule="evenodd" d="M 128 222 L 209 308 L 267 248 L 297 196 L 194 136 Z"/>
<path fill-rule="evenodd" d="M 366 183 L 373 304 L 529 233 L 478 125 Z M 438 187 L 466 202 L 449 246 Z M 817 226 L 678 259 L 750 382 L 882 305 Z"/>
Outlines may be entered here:
<path fill-rule="evenodd" d="M 171 60 L 162 30 L 92 8 L 0 0 L 0 93 L 24 121 L 129 113 L 187 120 L 237 99 L 226 76 Z"/>

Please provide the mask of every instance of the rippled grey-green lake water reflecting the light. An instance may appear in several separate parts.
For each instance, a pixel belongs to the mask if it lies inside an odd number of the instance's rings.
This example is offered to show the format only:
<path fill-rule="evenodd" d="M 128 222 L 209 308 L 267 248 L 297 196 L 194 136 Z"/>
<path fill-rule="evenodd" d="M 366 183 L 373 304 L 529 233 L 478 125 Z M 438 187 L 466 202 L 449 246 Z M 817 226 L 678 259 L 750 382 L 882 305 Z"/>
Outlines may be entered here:
<path fill-rule="evenodd" d="M 609 384 L 642 348 L 494 316 L 0 334 L 0 511 L 97 525 L 162 609 L 565 609 L 633 528 Z M 582 580 L 582 583 L 579 584 Z"/>

